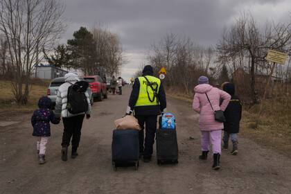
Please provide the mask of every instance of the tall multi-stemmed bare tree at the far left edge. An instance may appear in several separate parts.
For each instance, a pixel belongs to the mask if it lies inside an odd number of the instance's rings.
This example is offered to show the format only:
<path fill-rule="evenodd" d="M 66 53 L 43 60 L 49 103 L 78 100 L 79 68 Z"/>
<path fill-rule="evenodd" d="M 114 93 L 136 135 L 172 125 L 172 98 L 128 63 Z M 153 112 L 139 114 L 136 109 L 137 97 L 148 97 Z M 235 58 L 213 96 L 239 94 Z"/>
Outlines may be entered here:
<path fill-rule="evenodd" d="M 1 0 L 0 31 L 8 42 L 17 103 L 28 101 L 30 76 L 39 51 L 50 48 L 60 38 L 63 12 L 64 6 L 58 0 Z"/>

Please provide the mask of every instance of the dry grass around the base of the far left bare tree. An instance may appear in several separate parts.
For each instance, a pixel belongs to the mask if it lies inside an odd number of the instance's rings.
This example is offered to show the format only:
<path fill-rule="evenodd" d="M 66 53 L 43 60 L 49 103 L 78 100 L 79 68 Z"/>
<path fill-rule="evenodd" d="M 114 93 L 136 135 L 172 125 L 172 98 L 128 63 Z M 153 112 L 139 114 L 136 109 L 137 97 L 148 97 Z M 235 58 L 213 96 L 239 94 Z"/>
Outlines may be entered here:
<path fill-rule="evenodd" d="M 46 96 L 46 82 L 33 83 L 27 105 L 17 105 L 13 100 L 10 81 L 0 80 L 0 112 L 32 112 L 37 108 L 37 101 L 41 96 Z"/>

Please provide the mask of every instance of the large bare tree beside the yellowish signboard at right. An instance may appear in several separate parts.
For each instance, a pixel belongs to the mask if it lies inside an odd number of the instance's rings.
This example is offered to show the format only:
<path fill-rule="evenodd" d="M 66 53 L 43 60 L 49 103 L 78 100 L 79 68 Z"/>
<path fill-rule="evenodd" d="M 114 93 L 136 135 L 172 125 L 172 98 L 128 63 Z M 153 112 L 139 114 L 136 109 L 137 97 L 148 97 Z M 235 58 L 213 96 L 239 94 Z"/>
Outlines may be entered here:
<path fill-rule="evenodd" d="M 270 64 L 265 57 L 269 49 L 287 51 L 290 43 L 290 24 L 265 24 L 265 31 L 259 30 L 256 21 L 250 13 L 245 13 L 236 20 L 236 24 L 225 30 L 222 39 L 217 45 L 219 62 L 227 64 L 232 62 L 236 66 L 240 64 L 245 69 L 244 60 L 249 61 L 247 70 L 250 74 L 250 88 L 253 103 L 258 103 L 256 89 L 256 74 L 266 74 L 270 71 Z M 266 68 L 267 67 L 267 68 Z"/>

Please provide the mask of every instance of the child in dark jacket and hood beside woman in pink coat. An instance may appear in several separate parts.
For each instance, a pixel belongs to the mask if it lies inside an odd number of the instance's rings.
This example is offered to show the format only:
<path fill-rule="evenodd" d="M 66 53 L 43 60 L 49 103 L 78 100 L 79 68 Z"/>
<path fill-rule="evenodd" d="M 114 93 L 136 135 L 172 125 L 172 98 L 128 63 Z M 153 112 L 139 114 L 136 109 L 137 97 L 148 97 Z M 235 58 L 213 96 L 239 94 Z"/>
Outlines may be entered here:
<path fill-rule="evenodd" d="M 227 109 L 224 111 L 226 122 L 224 123 L 223 149 L 227 150 L 229 147 L 229 137 L 232 141 L 231 155 L 238 154 L 238 132 L 240 130 L 240 119 L 242 117 L 242 105 L 240 98 L 235 95 L 235 86 L 233 83 L 227 82 L 222 85 L 223 91 L 231 95 L 231 100 Z"/>

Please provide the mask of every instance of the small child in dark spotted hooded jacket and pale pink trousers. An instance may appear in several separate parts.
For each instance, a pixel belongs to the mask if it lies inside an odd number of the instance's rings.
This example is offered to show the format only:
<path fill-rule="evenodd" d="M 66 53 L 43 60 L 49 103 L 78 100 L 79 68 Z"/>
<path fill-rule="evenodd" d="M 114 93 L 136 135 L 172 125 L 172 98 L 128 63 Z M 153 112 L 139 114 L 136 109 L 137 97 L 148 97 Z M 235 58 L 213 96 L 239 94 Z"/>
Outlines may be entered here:
<path fill-rule="evenodd" d="M 51 125 L 60 123 L 60 118 L 55 118 L 55 114 L 51 111 L 51 99 L 43 96 L 38 102 L 39 109 L 33 112 L 31 124 L 33 125 L 33 136 L 37 136 L 37 153 L 39 164 L 45 163 L 46 143 L 48 136 L 51 136 Z"/>

